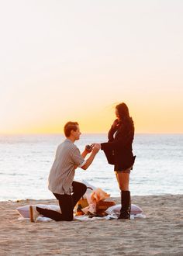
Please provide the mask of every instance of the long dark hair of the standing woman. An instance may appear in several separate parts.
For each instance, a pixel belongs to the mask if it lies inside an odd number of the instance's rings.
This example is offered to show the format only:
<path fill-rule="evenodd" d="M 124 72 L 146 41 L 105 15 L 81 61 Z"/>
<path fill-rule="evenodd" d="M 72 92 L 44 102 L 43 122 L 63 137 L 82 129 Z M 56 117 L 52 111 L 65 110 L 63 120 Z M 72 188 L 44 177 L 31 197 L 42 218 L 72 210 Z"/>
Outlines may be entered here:
<path fill-rule="evenodd" d="M 134 130 L 133 119 L 129 116 L 129 109 L 126 104 L 122 102 L 116 106 L 116 109 L 118 110 L 119 119 L 122 121 L 123 127 L 125 126 L 129 130 Z"/>

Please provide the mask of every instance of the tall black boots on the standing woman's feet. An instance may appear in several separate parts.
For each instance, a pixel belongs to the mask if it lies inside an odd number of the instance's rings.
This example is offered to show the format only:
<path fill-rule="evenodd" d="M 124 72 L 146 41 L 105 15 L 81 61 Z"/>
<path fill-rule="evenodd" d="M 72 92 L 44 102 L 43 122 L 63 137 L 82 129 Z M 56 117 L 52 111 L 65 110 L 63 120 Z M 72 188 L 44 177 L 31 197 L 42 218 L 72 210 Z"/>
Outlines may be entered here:
<path fill-rule="evenodd" d="M 122 208 L 120 210 L 120 215 L 118 219 L 130 219 L 130 209 L 131 209 L 131 198 L 129 191 L 121 191 L 121 204 Z"/>

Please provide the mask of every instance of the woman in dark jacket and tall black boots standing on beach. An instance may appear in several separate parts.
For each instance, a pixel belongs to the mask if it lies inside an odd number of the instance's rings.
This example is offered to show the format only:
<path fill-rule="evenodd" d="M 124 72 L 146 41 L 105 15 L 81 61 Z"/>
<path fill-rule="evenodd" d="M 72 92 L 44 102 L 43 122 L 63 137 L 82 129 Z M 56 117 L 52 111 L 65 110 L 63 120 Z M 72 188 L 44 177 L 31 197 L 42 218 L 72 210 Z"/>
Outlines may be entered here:
<path fill-rule="evenodd" d="M 109 164 L 114 165 L 117 182 L 121 190 L 121 210 L 119 219 L 130 219 L 129 174 L 133 169 L 133 119 L 129 116 L 129 109 L 125 103 L 116 106 L 116 120 L 112 123 L 108 133 L 109 142 L 102 143 Z"/>

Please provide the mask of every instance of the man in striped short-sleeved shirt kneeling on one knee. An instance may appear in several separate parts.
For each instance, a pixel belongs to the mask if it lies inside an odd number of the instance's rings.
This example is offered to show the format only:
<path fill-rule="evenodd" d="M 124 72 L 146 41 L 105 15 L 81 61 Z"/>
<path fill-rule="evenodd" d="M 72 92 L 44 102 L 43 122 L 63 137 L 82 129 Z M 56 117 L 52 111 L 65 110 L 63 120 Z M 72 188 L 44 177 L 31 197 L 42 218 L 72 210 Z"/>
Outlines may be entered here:
<path fill-rule="evenodd" d="M 57 147 L 54 164 L 48 178 L 48 189 L 58 199 L 61 213 L 50 209 L 30 206 L 31 221 L 36 219 L 39 213 L 53 220 L 73 220 L 73 209 L 81 196 L 86 192 L 86 185 L 74 182 L 76 168 L 86 170 L 100 150 L 100 144 L 95 144 L 91 150 L 85 150 L 81 154 L 78 147 L 74 145 L 79 140 L 81 132 L 77 122 L 67 122 L 64 126 L 66 140 Z M 85 157 L 91 153 L 87 160 Z"/>

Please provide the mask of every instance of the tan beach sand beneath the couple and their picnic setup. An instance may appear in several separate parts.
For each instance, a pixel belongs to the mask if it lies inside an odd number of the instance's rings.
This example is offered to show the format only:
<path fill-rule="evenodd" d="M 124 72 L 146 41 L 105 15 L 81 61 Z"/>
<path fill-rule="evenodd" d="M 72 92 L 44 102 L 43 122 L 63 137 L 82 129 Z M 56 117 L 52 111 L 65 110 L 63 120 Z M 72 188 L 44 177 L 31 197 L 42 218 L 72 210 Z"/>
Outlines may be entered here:
<path fill-rule="evenodd" d="M 37 203 L 57 201 L 0 202 L 0 255 L 183 255 L 183 195 L 133 196 L 146 219 L 18 220 L 16 207 Z"/>

